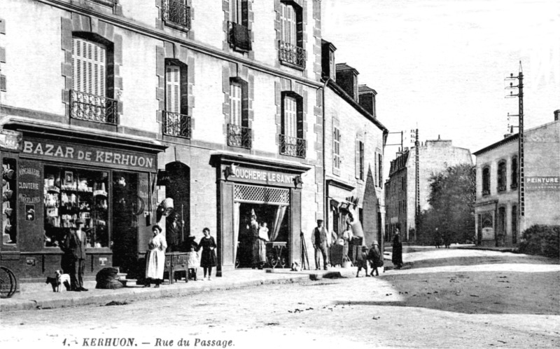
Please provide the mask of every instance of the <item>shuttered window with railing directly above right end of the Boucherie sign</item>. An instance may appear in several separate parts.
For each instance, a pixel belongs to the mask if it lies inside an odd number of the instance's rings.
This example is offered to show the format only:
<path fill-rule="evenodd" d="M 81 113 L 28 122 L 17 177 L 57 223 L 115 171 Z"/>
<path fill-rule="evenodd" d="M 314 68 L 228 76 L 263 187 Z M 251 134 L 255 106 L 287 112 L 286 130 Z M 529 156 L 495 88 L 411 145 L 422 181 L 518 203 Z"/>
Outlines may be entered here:
<path fill-rule="evenodd" d="M 282 93 L 280 153 L 304 158 L 307 142 L 303 137 L 303 98 L 295 93 Z"/>

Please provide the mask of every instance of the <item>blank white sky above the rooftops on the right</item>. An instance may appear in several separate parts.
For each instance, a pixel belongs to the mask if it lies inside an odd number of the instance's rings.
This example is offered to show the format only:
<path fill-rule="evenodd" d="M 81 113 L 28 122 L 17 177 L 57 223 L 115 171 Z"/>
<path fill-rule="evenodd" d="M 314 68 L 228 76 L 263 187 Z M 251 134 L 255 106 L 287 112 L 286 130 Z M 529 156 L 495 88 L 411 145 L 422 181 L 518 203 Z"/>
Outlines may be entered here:
<path fill-rule="evenodd" d="M 357 69 L 358 82 L 377 91 L 377 118 L 390 132 L 418 128 L 421 142 L 440 136 L 471 152 L 498 142 L 507 133 L 507 113 L 518 114 L 517 98 L 505 98 L 504 79 L 518 75 L 519 61 L 525 130 L 554 121 L 560 109 L 559 0 L 323 0 L 322 6 L 323 39 L 336 46 L 337 63 Z M 388 144 L 400 143 L 400 135 L 389 136 Z M 405 137 L 405 146 L 413 146 Z M 387 146 L 386 161 L 396 151 Z"/>

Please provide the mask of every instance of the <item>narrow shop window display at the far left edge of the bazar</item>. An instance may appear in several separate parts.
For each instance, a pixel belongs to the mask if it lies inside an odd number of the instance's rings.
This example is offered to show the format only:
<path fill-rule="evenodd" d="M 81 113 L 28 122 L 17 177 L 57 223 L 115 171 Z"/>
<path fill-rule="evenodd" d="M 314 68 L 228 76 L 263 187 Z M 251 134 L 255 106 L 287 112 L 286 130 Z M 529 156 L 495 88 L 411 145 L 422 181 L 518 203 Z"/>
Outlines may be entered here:
<path fill-rule="evenodd" d="M 6 245 L 15 245 L 17 242 L 16 202 L 14 189 L 16 186 L 15 159 L 3 158 L 2 160 L 2 241 Z"/>

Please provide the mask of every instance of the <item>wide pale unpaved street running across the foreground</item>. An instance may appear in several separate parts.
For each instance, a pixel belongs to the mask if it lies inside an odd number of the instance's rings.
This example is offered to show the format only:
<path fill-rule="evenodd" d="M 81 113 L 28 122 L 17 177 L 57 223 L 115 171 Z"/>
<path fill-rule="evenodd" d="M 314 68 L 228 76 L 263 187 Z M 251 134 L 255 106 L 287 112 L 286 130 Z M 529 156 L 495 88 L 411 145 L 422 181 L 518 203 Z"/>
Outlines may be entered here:
<path fill-rule="evenodd" d="M 176 347 L 181 338 L 197 347 L 231 340 L 235 348 L 560 346 L 558 264 L 497 252 L 465 260 L 457 252 L 462 265 L 454 265 L 447 251 L 418 252 L 427 254 L 416 259 L 421 268 L 379 278 L 2 313 L 0 345 L 63 348 L 66 339 L 66 347 L 76 348 L 91 345 L 90 338 L 134 337 L 140 348 Z"/>

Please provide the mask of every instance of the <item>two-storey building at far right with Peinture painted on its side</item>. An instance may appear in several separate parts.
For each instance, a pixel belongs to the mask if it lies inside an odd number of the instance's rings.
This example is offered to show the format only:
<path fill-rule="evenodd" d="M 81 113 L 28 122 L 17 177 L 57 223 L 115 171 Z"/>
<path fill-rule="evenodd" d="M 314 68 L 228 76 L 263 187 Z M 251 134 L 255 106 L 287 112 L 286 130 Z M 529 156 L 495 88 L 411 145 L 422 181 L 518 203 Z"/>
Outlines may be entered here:
<path fill-rule="evenodd" d="M 560 224 L 560 110 L 554 121 L 524 132 L 524 166 L 519 134 L 475 152 L 477 244 L 517 245 L 533 224 Z M 524 203 L 519 205 L 519 171 L 524 173 Z M 524 212 L 521 212 L 523 210 Z"/>

